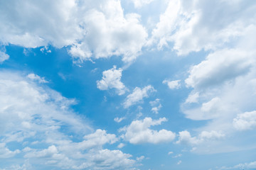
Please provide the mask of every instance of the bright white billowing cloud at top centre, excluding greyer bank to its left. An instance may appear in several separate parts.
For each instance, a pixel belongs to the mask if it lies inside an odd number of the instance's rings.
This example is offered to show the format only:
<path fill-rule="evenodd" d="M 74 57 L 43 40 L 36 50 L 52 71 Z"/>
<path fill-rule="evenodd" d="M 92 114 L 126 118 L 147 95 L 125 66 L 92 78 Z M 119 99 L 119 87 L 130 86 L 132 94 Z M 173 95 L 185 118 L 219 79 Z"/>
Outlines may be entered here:
<path fill-rule="evenodd" d="M 87 6 L 87 3 L 82 5 Z M 132 62 L 139 55 L 147 33 L 139 24 L 140 16 L 124 12 L 120 1 L 100 1 L 99 6 L 89 9 L 83 14 L 82 27 L 85 35 L 81 42 L 75 43 L 70 54 L 81 62 L 92 55 L 95 58 L 122 55 L 124 62 Z M 92 54 L 93 52 L 93 54 Z"/>

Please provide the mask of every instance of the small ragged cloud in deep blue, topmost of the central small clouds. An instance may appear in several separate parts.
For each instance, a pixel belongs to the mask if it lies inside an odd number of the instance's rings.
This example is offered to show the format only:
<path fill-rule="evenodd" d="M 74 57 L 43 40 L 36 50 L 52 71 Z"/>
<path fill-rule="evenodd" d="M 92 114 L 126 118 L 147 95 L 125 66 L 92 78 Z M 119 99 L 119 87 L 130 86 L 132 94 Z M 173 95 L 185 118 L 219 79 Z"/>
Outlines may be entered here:
<path fill-rule="evenodd" d="M 116 89 L 118 95 L 122 95 L 127 90 L 121 81 L 122 69 L 114 66 L 102 72 L 102 79 L 97 81 L 97 88 L 100 90 Z"/>

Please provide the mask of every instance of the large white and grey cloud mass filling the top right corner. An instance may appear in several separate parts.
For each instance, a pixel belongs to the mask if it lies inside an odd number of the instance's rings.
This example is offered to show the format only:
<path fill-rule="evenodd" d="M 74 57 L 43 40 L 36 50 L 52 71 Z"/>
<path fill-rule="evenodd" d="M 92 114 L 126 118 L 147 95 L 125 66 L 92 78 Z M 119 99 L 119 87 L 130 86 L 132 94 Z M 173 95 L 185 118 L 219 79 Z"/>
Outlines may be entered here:
<path fill-rule="evenodd" d="M 174 43 L 178 55 L 227 47 L 250 24 L 255 25 L 251 21 L 255 7 L 255 3 L 244 1 L 169 1 L 148 44 L 156 43 L 161 49 Z"/>

